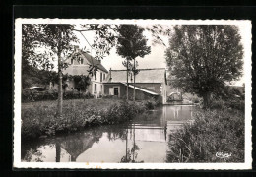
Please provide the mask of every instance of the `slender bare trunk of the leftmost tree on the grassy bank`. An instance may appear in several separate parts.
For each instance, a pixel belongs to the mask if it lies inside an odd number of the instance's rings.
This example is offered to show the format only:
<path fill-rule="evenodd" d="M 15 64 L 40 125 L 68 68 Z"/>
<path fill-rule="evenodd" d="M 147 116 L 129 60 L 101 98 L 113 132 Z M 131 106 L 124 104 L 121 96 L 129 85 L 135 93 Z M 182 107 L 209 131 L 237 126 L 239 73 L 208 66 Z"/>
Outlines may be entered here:
<path fill-rule="evenodd" d="M 62 118 L 63 90 L 62 90 L 62 72 L 61 72 L 61 56 L 60 56 L 60 52 L 58 52 L 58 76 L 59 76 L 58 116 L 59 116 L 59 118 Z"/>

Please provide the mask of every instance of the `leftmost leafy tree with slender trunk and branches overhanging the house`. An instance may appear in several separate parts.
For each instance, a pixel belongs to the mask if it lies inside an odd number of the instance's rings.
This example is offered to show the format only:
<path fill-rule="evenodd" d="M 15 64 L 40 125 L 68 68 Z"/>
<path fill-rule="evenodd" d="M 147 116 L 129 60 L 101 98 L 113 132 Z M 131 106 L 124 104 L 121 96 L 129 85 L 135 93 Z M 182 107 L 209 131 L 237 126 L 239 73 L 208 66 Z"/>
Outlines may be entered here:
<path fill-rule="evenodd" d="M 109 53 L 110 48 L 115 41 L 115 26 L 111 25 L 81 25 L 80 30 L 75 29 L 73 25 L 39 24 L 23 25 L 22 36 L 22 61 L 23 71 L 26 67 L 32 65 L 40 69 L 53 69 L 52 60 L 58 61 L 58 115 L 62 116 L 63 103 L 63 85 L 62 70 L 68 67 L 65 62 L 67 58 L 75 51 L 76 47 L 72 43 L 78 43 L 79 40 L 74 31 L 79 31 L 83 35 L 84 31 L 96 32 L 95 43 L 92 45 L 96 49 L 96 59 L 102 59 L 104 53 Z M 84 36 L 84 35 L 83 35 Z M 43 48 L 43 52 L 38 54 L 36 49 Z M 96 66 L 92 66 L 90 73 L 95 73 Z M 84 82 L 85 83 L 85 82 Z M 81 83 L 83 85 L 83 83 Z"/>

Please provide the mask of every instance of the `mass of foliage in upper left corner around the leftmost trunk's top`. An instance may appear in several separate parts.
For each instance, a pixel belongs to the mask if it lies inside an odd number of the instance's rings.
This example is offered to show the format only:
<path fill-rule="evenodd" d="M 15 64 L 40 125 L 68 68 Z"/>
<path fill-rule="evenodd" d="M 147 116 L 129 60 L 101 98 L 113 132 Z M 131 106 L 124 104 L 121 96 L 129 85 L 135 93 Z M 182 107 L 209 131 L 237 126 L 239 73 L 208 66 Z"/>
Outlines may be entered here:
<path fill-rule="evenodd" d="M 71 42 L 78 42 L 72 27 L 55 24 L 23 25 L 23 62 L 39 69 L 52 70 L 53 60 L 61 56 L 62 62 L 59 67 L 67 67 L 64 60 L 74 51 Z"/>

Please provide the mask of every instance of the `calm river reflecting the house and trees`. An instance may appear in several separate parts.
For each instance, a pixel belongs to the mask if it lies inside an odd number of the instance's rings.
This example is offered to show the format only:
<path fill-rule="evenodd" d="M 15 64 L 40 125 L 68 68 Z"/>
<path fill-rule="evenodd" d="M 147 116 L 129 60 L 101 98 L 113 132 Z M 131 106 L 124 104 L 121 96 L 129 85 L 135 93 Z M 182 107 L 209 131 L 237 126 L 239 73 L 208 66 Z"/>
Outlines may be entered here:
<path fill-rule="evenodd" d="M 164 105 L 121 125 L 22 144 L 22 161 L 168 162 L 171 135 L 192 120 L 194 106 Z"/>

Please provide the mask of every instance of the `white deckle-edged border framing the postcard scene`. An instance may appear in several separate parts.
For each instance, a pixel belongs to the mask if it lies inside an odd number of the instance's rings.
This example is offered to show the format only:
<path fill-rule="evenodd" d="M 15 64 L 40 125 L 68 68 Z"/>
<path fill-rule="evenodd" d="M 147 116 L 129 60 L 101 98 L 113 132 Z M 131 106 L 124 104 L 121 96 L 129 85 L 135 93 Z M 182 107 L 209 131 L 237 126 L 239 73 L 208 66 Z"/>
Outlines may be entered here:
<path fill-rule="evenodd" d="M 91 162 L 22 162 L 21 161 L 21 57 L 22 24 L 140 24 L 140 25 L 244 25 L 247 27 L 247 48 L 250 56 L 244 61 L 245 76 L 245 162 L 244 163 L 91 163 Z M 249 20 L 110 20 L 110 19 L 16 19 L 14 54 L 14 140 L 13 167 L 69 169 L 251 169 L 251 22 Z"/>

